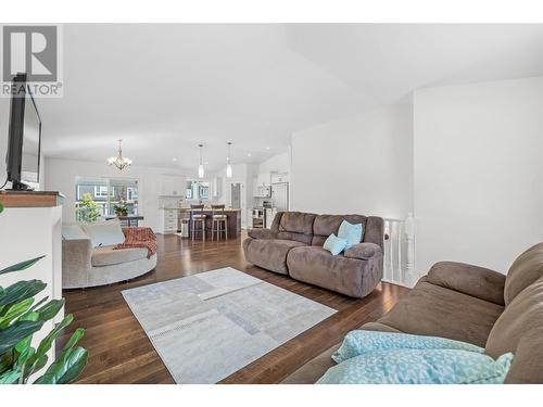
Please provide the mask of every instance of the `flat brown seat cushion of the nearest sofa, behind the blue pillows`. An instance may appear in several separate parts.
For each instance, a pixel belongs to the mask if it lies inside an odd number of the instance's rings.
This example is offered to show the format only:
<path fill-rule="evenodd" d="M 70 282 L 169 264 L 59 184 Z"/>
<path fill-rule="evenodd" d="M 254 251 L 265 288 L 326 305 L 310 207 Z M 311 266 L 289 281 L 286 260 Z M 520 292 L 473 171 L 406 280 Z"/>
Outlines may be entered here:
<path fill-rule="evenodd" d="M 449 338 L 484 347 L 503 310 L 501 305 L 431 284 L 422 277 L 378 322 L 406 333 Z"/>

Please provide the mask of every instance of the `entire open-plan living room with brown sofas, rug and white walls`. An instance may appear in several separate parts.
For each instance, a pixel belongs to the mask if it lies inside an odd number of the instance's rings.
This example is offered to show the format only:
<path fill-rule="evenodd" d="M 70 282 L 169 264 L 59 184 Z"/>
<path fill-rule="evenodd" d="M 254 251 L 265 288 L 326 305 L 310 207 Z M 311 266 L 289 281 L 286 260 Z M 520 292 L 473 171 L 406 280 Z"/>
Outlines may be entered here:
<path fill-rule="evenodd" d="M 0 383 L 543 384 L 543 24 L 143 21 L 2 23 Z"/>

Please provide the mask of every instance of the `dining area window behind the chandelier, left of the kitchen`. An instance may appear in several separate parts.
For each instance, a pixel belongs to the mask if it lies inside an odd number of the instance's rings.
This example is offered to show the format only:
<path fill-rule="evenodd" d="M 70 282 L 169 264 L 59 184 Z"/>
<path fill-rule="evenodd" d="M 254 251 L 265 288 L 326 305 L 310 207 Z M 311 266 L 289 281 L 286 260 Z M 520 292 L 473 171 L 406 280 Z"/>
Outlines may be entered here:
<path fill-rule="evenodd" d="M 128 215 L 138 214 L 138 180 L 126 178 L 75 179 L 75 218 L 94 221 L 115 216 L 115 207 L 126 207 Z"/>

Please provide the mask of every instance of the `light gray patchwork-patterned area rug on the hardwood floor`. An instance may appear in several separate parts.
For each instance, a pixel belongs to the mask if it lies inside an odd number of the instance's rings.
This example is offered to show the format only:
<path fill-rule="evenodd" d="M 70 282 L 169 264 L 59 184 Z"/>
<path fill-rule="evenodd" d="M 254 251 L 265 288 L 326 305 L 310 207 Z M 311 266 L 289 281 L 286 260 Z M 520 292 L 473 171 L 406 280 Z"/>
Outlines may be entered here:
<path fill-rule="evenodd" d="M 176 383 L 216 383 L 336 313 L 229 267 L 123 295 Z"/>

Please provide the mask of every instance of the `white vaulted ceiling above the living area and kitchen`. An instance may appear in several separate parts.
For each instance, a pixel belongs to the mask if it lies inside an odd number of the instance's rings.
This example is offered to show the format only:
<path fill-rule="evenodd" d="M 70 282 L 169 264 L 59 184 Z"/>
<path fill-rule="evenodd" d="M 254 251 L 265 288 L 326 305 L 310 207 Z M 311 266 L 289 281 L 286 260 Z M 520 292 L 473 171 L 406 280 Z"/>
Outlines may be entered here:
<path fill-rule="evenodd" d="M 414 89 L 543 75 L 543 25 L 64 25 L 64 97 L 43 150 L 210 170 L 286 151 L 293 131 Z M 251 154 L 251 157 L 248 154 Z M 174 157 L 177 161 L 174 162 Z"/>

